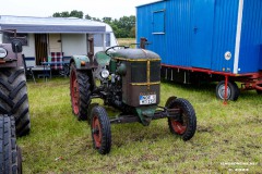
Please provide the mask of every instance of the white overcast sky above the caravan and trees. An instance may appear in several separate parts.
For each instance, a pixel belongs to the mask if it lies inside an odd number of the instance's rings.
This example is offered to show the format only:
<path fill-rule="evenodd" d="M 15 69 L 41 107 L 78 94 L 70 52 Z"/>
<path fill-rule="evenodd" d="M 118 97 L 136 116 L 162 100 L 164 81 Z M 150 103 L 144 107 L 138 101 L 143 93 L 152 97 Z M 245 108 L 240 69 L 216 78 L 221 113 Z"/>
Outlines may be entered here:
<path fill-rule="evenodd" d="M 135 15 L 135 7 L 157 0 L 0 0 L 0 15 L 51 16 L 55 12 L 82 11 L 92 17 Z"/>

